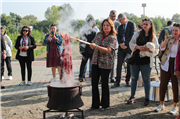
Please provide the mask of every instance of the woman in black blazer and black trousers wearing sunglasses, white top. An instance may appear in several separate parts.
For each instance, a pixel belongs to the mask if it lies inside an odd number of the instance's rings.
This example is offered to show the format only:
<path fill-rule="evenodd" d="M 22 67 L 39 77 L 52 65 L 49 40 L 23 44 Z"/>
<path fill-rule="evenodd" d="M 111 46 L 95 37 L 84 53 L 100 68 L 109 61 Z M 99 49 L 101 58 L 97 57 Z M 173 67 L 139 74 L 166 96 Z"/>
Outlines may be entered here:
<path fill-rule="evenodd" d="M 20 36 L 17 37 L 15 48 L 18 50 L 16 54 L 16 59 L 19 60 L 21 67 L 22 82 L 20 86 L 25 85 L 25 65 L 28 71 L 28 82 L 27 85 L 31 86 L 31 76 L 32 76 L 32 61 L 34 61 L 34 49 L 36 48 L 36 43 L 34 37 L 31 36 L 31 29 L 29 26 L 23 26 Z"/>

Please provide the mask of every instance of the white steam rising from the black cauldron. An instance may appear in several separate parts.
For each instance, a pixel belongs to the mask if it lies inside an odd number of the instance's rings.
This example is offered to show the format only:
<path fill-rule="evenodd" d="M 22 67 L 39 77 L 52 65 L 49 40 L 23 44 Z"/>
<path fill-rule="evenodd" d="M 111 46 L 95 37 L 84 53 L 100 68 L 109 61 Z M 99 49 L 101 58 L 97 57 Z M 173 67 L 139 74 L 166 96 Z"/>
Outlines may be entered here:
<path fill-rule="evenodd" d="M 87 25 L 83 26 L 79 32 L 75 32 L 75 28 L 72 26 L 73 14 L 74 13 L 73 13 L 72 9 L 68 9 L 67 7 L 65 7 L 65 9 L 63 9 L 59 12 L 60 20 L 58 21 L 58 25 L 57 25 L 59 34 L 64 33 L 64 34 L 68 34 L 73 37 L 78 37 L 79 34 L 81 34 L 82 37 L 84 36 L 82 34 L 86 34 L 86 35 L 90 34 L 91 30 L 92 30 L 92 26 L 94 24 L 93 21 L 90 21 Z M 71 46 L 74 45 L 74 42 L 75 42 L 75 40 L 71 41 Z M 63 46 L 63 49 L 65 49 L 65 48 L 66 47 Z M 73 51 L 79 53 L 79 49 L 75 49 Z M 69 53 L 69 55 L 71 55 L 71 51 L 68 51 L 68 53 Z M 63 60 L 64 59 L 62 59 L 62 61 Z M 67 61 L 67 62 L 69 62 L 69 61 Z M 63 70 L 63 71 L 65 71 L 65 70 Z M 50 85 L 54 86 L 54 87 L 74 86 L 75 81 L 74 81 L 73 71 L 71 71 L 70 74 L 67 74 L 66 72 L 64 72 L 64 76 L 62 77 L 62 79 L 60 81 L 55 80 L 54 82 L 51 82 Z"/>

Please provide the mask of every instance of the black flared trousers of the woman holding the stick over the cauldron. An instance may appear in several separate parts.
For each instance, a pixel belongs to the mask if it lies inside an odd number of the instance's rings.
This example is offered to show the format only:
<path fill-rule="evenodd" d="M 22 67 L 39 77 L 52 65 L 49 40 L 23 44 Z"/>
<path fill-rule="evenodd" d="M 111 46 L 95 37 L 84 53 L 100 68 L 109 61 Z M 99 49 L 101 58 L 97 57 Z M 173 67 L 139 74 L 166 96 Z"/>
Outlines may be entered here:
<path fill-rule="evenodd" d="M 98 67 L 98 65 L 92 65 L 92 107 L 99 108 L 99 106 L 102 106 L 102 108 L 109 107 L 109 74 L 111 69 L 101 69 Z M 101 88 L 102 88 L 102 97 L 100 102 L 100 96 L 99 96 L 99 77 L 101 76 Z"/>

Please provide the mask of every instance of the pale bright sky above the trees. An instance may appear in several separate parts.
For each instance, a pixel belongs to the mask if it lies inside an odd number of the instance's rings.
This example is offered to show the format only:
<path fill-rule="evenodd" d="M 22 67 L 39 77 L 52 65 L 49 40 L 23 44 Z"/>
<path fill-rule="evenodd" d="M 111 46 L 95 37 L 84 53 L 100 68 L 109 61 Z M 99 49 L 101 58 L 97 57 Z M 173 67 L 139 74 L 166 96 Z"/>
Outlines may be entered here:
<path fill-rule="evenodd" d="M 52 5 L 61 6 L 69 3 L 74 9 L 74 19 L 85 19 L 92 14 L 95 19 L 104 19 L 111 10 L 117 13 L 133 13 L 138 17 L 143 14 L 142 3 L 146 3 L 145 15 L 148 17 L 164 16 L 172 18 L 173 14 L 180 14 L 180 0 L 0 0 L 0 13 L 9 15 L 16 13 L 21 17 L 35 15 L 38 21 L 45 20 L 44 13 Z"/>

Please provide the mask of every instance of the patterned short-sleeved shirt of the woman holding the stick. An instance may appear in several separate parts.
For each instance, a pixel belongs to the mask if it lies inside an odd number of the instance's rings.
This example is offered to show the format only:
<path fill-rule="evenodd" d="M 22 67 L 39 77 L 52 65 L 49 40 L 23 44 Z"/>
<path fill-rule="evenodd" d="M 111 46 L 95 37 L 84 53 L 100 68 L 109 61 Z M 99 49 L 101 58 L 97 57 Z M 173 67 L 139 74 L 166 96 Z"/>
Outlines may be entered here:
<path fill-rule="evenodd" d="M 92 42 L 101 47 L 110 47 L 113 50 L 109 54 L 107 54 L 94 49 L 92 64 L 98 64 L 99 68 L 102 69 L 111 69 L 113 66 L 117 39 L 115 36 L 110 35 L 102 41 L 102 37 L 103 36 L 101 35 L 101 33 L 98 33 Z"/>

